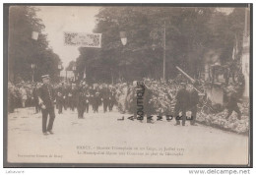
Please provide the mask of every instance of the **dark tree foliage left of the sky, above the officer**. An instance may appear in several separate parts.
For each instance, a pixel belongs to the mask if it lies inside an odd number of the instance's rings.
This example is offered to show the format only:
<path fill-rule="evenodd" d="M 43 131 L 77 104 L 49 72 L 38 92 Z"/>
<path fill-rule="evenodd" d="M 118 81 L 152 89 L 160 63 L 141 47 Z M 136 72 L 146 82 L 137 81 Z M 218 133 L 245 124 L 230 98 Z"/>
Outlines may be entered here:
<path fill-rule="evenodd" d="M 60 58 L 48 47 L 47 35 L 41 33 L 45 28 L 41 19 L 36 17 L 38 9 L 30 6 L 11 6 L 9 8 L 8 66 L 9 80 L 34 81 L 49 74 L 57 80 Z M 32 31 L 39 32 L 37 40 L 32 39 Z"/>

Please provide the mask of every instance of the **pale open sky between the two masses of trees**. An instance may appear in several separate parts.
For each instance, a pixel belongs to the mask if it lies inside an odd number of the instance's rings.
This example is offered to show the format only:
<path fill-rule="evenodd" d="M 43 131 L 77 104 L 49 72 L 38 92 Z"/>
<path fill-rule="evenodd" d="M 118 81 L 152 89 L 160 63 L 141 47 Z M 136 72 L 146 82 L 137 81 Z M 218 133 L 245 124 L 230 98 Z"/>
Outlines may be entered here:
<path fill-rule="evenodd" d="M 37 6 L 38 7 L 38 6 Z M 62 65 L 67 67 L 70 61 L 79 56 L 78 47 L 64 45 L 64 31 L 93 32 L 96 26 L 96 14 L 100 7 L 75 6 L 39 6 L 37 17 L 42 20 L 48 36 L 49 47 L 58 54 Z"/>

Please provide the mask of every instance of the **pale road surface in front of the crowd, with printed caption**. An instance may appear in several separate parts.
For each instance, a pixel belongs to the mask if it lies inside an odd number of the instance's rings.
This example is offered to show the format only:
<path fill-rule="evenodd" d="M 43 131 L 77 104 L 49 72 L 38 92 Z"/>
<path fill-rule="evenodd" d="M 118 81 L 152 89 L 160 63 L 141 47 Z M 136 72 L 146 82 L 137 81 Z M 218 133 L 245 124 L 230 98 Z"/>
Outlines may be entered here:
<path fill-rule="evenodd" d="M 120 121 L 117 119 L 122 118 Z M 174 126 L 128 120 L 116 109 L 78 119 L 56 114 L 54 135 L 41 133 L 41 114 L 32 108 L 8 116 L 8 161 L 57 163 L 246 164 L 248 137 L 203 125 Z"/>

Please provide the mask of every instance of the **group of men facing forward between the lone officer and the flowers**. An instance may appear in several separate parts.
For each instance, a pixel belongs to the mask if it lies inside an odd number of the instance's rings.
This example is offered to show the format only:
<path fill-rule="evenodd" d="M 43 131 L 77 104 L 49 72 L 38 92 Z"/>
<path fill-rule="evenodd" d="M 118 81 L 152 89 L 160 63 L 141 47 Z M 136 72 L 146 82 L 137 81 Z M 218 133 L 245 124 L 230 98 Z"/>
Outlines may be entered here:
<path fill-rule="evenodd" d="M 72 111 L 77 108 L 78 118 L 84 118 L 90 105 L 96 113 L 100 105 L 103 106 L 103 112 L 106 112 L 112 111 L 116 103 L 115 88 L 106 84 L 89 86 L 86 82 L 71 85 L 62 83 L 55 87 L 55 91 L 58 113 L 62 113 L 63 108 L 70 108 Z"/>

